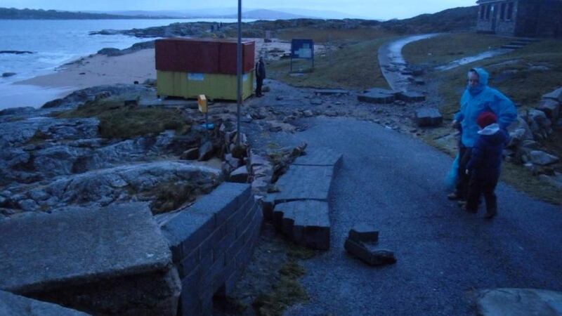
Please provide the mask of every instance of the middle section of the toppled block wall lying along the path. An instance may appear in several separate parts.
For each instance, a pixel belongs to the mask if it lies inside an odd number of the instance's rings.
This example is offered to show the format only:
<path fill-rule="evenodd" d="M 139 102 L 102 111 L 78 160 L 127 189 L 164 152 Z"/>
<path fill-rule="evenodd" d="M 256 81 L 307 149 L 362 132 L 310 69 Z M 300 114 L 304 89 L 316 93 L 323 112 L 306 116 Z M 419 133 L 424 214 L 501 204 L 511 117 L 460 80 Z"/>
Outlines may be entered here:
<path fill-rule="evenodd" d="M 333 176 L 333 166 L 291 166 L 277 180 L 280 192 L 274 194 L 275 204 L 299 199 L 327 201 Z"/>

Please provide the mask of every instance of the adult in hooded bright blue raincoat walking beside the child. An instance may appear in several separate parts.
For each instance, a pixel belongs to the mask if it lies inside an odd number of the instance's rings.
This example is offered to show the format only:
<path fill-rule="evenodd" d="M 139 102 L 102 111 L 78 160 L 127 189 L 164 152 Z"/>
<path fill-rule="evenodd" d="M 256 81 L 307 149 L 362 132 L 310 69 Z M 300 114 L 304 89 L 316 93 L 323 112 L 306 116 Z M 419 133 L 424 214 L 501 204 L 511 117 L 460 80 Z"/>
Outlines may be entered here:
<path fill-rule="evenodd" d="M 469 176 L 464 172 L 471 157 L 471 151 L 478 138 L 476 119 L 482 112 L 493 112 L 497 117 L 500 129 L 517 118 L 515 105 L 509 98 L 495 88 L 488 86 L 488 72 L 482 68 L 473 68 L 468 74 L 468 86 L 461 97 L 461 108 L 452 121 L 452 127 L 461 127 L 462 135 L 459 143 L 459 168 L 457 169 L 457 185 L 449 199 L 466 199 Z"/>

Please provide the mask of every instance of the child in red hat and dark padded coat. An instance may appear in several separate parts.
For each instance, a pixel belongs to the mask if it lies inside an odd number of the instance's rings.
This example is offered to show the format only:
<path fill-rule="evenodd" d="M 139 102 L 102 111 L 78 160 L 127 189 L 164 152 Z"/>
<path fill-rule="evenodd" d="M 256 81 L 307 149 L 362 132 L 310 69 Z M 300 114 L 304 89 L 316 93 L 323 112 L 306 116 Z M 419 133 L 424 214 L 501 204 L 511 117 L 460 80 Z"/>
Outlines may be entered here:
<path fill-rule="evenodd" d="M 470 176 L 468 197 L 465 210 L 471 213 L 478 211 L 480 196 L 486 202 L 486 218 L 497 213 L 497 199 L 494 193 L 502 166 L 502 153 L 509 136 L 499 128 L 497 117 L 492 112 L 478 115 L 476 123 L 480 126 L 478 137 L 471 150 L 471 157 L 466 163 L 465 173 Z"/>

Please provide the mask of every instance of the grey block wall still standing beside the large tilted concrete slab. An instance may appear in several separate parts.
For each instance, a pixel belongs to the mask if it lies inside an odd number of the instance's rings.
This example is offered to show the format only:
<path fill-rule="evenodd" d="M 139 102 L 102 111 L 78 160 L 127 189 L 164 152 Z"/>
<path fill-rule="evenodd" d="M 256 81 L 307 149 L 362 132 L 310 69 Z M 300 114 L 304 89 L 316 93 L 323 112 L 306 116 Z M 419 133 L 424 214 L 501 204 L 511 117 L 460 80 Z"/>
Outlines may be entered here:
<path fill-rule="evenodd" d="M 248 184 L 223 183 L 187 209 L 157 216 L 182 291 L 178 315 L 211 315 L 251 259 L 262 213 Z"/>

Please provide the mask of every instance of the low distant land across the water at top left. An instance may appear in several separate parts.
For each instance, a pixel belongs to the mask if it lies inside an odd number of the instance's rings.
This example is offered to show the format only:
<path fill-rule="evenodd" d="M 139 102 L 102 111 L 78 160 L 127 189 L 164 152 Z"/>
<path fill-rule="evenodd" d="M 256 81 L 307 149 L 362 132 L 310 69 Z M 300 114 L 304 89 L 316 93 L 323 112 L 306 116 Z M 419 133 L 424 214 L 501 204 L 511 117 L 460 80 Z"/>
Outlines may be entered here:
<path fill-rule="evenodd" d="M 17 8 L 0 8 L 0 20 L 110 20 L 138 18 L 169 18 L 151 17 L 147 15 L 112 15 L 107 13 L 86 13 L 57 10 L 33 10 Z"/>

